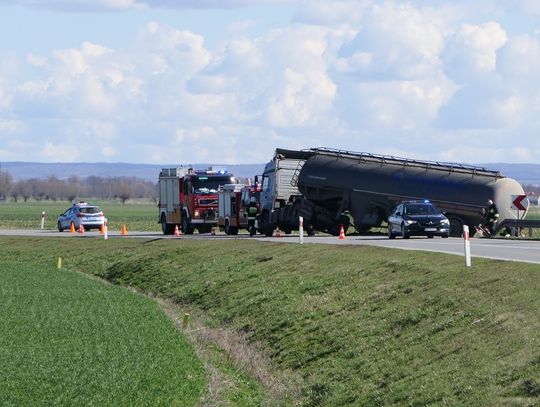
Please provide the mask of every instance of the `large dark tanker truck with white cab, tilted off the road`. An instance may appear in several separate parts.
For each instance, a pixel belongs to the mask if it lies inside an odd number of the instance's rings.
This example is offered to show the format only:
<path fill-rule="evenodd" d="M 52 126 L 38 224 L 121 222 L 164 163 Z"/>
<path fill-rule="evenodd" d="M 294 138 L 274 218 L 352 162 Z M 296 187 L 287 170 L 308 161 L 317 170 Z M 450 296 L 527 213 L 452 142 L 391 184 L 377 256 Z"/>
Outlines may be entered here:
<path fill-rule="evenodd" d="M 294 169 L 293 169 L 294 168 Z M 492 199 L 500 219 L 515 219 L 512 196 L 521 185 L 498 171 L 456 163 L 420 161 L 329 148 L 277 149 L 263 173 L 261 231 L 286 233 L 304 218 L 308 232 L 339 234 L 350 222 L 360 233 L 380 227 L 405 200 L 430 200 L 450 220 L 450 235 L 483 220 Z"/>

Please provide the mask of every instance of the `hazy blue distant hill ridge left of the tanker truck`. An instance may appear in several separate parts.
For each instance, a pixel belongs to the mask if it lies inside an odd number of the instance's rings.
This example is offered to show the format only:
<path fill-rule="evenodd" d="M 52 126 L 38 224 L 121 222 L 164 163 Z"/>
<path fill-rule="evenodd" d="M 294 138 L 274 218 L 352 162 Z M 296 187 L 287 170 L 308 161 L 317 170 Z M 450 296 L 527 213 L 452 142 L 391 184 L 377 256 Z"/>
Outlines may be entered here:
<path fill-rule="evenodd" d="M 65 180 L 71 176 L 86 178 L 97 177 L 136 177 L 146 181 L 158 180 L 162 168 L 174 168 L 178 165 L 155 165 L 155 164 L 126 164 L 126 163 L 30 163 L 30 162 L 2 162 L 2 171 L 8 171 L 15 181 L 21 179 L 37 178 L 46 179 L 55 176 Z M 238 178 L 252 178 L 261 174 L 264 164 L 238 164 L 223 165 Z M 193 164 L 193 168 L 208 168 L 212 164 Z"/>

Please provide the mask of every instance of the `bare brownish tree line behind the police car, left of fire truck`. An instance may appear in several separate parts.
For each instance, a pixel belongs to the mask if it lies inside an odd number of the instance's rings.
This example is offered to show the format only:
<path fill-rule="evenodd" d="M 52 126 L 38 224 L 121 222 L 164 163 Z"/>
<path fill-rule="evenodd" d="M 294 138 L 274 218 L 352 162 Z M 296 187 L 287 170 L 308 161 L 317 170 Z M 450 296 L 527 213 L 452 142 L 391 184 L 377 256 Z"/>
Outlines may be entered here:
<path fill-rule="evenodd" d="M 15 202 L 29 199 L 51 201 L 73 201 L 81 197 L 100 199 L 146 198 L 157 201 L 157 183 L 135 177 L 69 177 L 60 180 L 50 176 L 47 179 L 29 178 L 14 181 L 6 171 L 0 171 L 0 200 Z"/>

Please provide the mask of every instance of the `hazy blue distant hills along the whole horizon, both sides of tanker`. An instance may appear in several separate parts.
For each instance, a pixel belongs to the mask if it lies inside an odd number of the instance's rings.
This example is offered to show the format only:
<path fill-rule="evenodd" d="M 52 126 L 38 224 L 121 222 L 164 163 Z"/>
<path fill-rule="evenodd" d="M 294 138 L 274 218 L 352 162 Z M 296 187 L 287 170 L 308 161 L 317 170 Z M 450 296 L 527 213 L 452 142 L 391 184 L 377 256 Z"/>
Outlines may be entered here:
<path fill-rule="evenodd" d="M 194 168 L 208 168 L 212 164 L 194 164 Z M 264 164 L 235 164 L 219 165 L 227 168 L 239 178 L 253 178 L 261 174 Z M 85 178 L 90 175 L 99 177 L 136 177 L 147 181 L 156 181 L 162 168 L 173 168 L 177 165 L 155 164 L 125 164 L 125 163 L 30 163 L 30 162 L 2 162 L 0 169 L 8 171 L 14 180 L 38 178 L 45 179 L 55 176 L 67 179 L 70 176 Z M 522 184 L 540 185 L 540 164 L 508 164 L 488 163 L 477 164 L 500 171 L 501 174 L 514 178 Z"/>

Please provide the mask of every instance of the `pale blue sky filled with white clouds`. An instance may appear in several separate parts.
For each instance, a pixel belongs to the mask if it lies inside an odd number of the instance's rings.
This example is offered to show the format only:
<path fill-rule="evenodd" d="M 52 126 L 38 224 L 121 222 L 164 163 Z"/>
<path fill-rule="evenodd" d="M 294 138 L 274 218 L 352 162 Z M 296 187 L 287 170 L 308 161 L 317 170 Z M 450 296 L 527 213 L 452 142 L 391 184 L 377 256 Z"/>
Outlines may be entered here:
<path fill-rule="evenodd" d="M 0 161 L 540 157 L 537 0 L 0 0 L 0 26 Z"/>

